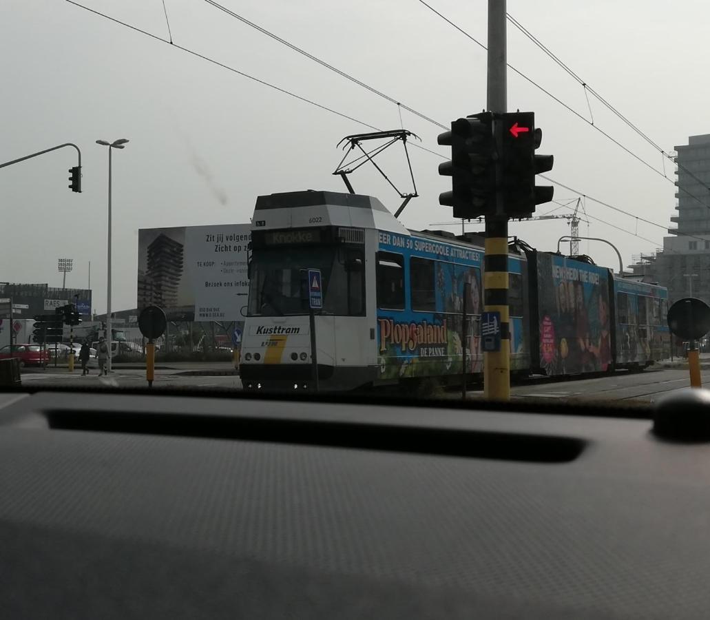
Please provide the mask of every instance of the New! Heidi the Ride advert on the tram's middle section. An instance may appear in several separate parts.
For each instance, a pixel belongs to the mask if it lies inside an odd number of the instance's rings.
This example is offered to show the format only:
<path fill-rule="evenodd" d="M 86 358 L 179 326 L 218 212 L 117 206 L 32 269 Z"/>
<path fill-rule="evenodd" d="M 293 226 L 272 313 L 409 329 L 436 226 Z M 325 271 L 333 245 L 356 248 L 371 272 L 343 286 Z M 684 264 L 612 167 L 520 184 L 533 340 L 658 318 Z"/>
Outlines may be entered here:
<path fill-rule="evenodd" d="M 540 367 L 548 375 L 611 364 L 608 278 L 606 267 L 537 254 Z"/>

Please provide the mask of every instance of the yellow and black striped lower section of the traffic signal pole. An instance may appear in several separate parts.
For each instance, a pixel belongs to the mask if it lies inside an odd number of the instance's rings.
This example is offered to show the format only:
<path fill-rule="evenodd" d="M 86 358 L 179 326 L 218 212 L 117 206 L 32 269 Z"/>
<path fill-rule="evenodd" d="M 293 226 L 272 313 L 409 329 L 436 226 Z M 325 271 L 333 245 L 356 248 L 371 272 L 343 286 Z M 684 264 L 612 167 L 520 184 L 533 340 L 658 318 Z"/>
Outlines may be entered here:
<path fill-rule="evenodd" d="M 501 315 L 501 349 L 484 352 L 484 396 L 494 401 L 510 398 L 510 317 L 508 316 L 508 217 L 486 217 L 484 258 L 486 312 Z"/>

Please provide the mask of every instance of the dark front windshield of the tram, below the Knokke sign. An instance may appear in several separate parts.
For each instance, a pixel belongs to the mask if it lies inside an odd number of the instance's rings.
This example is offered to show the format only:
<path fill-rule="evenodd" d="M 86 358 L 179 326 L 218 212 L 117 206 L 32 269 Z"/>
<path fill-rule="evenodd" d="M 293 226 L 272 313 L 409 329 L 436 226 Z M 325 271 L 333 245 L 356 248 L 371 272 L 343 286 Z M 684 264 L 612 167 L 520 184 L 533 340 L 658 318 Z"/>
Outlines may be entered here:
<path fill-rule="evenodd" d="M 251 259 L 249 316 L 303 315 L 308 312 L 305 272 L 320 269 L 323 314 L 365 313 L 364 255 L 343 246 L 282 246 L 254 251 Z"/>

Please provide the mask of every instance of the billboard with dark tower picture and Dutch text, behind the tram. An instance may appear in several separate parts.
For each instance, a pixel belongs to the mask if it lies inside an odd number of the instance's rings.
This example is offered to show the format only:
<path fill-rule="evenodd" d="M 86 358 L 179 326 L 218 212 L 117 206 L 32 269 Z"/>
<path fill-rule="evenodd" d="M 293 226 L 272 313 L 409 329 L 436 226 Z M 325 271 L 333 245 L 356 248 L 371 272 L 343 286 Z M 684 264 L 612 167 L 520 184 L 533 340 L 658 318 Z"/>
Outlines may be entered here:
<path fill-rule="evenodd" d="M 173 321 L 244 320 L 251 224 L 138 231 L 138 310 Z"/>

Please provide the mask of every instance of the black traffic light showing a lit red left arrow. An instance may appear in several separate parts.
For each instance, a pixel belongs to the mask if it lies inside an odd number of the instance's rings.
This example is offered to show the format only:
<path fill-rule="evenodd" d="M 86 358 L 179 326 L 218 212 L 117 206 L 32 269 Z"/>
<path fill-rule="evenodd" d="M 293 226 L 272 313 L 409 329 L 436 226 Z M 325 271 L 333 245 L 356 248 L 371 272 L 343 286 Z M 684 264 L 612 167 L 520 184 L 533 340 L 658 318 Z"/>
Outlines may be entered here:
<path fill-rule="evenodd" d="M 508 217 L 528 217 L 535 205 L 550 202 L 554 188 L 535 185 L 535 175 L 552 170 L 552 155 L 535 155 L 542 130 L 535 128 L 535 112 L 497 116 L 496 143 L 501 153 L 500 188 Z"/>

